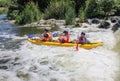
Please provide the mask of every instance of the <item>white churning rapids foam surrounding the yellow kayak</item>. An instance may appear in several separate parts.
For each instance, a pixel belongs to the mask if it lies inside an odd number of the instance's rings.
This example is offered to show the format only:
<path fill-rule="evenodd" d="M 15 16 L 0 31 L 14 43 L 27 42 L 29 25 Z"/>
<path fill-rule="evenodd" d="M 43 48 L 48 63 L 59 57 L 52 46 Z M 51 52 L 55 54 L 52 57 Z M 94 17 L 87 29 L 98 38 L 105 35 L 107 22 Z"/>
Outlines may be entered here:
<path fill-rule="evenodd" d="M 111 30 L 98 28 L 74 28 L 71 39 L 77 33 L 85 31 L 90 41 L 102 41 L 103 46 L 86 50 L 75 47 L 56 47 L 34 45 L 24 40 L 17 50 L 1 50 L 1 58 L 5 55 L 19 58 L 8 71 L 1 70 L 3 81 L 115 81 L 119 72 L 118 54 L 111 51 L 116 40 Z M 91 31 L 91 32 L 90 32 Z M 14 37 L 19 39 L 20 37 Z M 5 57 L 6 58 L 6 57 Z M 9 63 L 8 63 L 9 64 Z M 4 76 L 7 76 L 7 79 Z"/>

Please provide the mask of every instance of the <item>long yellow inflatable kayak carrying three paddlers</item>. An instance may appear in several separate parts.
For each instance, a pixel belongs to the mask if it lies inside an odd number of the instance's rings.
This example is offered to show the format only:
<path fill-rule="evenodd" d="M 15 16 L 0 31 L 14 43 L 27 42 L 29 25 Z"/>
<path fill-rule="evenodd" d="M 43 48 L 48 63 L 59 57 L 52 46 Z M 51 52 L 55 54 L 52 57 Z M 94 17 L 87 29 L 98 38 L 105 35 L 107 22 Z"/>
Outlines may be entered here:
<path fill-rule="evenodd" d="M 72 47 L 77 45 L 76 43 L 43 42 L 38 39 L 31 39 L 31 38 L 28 38 L 28 41 L 37 45 L 52 45 L 52 46 L 63 46 L 63 47 Z M 84 44 L 84 45 L 78 44 L 79 47 L 85 48 L 85 49 L 96 48 L 102 45 L 103 45 L 102 42 L 95 42 L 95 43 Z"/>

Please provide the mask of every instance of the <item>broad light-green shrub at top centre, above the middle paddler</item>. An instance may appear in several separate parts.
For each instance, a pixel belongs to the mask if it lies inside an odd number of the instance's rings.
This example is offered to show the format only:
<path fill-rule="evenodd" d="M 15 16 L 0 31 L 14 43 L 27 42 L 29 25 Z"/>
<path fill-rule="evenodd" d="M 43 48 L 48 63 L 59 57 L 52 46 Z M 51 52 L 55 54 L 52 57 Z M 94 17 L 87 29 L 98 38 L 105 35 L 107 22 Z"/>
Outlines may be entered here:
<path fill-rule="evenodd" d="M 45 19 L 65 19 L 65 13 L 69 9 L 69 1 L 66 0 L 52 0 L 45 10 Z"/>

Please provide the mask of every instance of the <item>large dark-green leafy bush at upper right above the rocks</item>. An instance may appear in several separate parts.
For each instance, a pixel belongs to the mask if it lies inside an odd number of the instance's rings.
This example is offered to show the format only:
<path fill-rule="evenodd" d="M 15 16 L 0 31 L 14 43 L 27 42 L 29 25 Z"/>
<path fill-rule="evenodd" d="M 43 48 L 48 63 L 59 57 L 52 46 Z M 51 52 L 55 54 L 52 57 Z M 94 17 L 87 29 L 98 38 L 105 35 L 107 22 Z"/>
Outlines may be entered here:
<path fill-rule="evenodd" d="M 114 14 L 114 5 L 114 0 L 87 0 L 85 9 L 80 9 L 79 15 L 84 14 L 86 18 L 106 17 Z"/>

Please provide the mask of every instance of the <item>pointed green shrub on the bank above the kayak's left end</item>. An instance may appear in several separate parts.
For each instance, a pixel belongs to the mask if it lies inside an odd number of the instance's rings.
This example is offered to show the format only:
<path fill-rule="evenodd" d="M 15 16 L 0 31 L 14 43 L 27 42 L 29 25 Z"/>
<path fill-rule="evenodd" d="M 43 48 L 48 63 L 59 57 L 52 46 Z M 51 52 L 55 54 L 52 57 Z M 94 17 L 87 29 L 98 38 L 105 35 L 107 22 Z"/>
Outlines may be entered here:
<path fill-rule="evenodd" d="M 30 2 L 26 5 L 24 10 L 16 17 L 16 24 L 27 24 L 40 19 L 40 11 L 38 7 Z"/>

